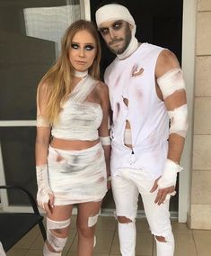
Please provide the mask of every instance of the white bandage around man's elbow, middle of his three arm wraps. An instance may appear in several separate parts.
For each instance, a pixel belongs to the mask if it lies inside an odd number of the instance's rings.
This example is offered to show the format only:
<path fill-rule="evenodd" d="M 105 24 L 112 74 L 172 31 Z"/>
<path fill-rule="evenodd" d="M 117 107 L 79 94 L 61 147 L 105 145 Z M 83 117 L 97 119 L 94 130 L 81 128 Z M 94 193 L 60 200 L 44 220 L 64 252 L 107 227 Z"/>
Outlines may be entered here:
<path fill-rule="evenodd" d="M 168 111 L 168 114 L 171 119 L 170 133 L 177 133 L 185 138 L 189 127 L 187 104 L 180 105 L 173 111 Z"/>

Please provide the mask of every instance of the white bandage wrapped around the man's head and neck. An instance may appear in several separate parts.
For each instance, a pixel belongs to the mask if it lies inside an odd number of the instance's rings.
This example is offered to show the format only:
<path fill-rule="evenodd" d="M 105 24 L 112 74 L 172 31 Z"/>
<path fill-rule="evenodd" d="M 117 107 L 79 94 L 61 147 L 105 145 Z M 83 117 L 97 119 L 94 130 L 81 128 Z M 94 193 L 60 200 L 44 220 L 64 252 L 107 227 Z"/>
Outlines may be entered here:
<path fill-rule="evenodd" d="M 127 49 L 122 54 L 118 54 L 119 59 L 126 59 L 137 49 L 138 41 L 135 37 L 136 23 L 133 16 L 129 13 L 128 9 L 125 6 L 117 4 L 103 5 L 97 10 L 95 14 L 95 19 L 98 28 L 101 28 L 102 23 L 112 21 L 125 21 L 132 25 L 131 40 L 127 46 Z"/>

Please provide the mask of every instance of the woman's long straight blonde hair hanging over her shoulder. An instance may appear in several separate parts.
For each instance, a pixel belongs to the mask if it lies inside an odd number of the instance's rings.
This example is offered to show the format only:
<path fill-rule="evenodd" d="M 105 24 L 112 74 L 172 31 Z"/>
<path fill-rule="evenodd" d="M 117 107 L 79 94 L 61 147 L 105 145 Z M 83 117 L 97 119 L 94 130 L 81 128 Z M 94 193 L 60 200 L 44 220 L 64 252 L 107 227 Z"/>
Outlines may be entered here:
<path fill-rule="evenodd" d="M 100 79 L 101 41 L 99 39 L 99 34 L 92 22 L 78 20 L 67 28 L 62 39 L 60 57 L 40 80 L 39 87 L 45 82 L 47 82 L 46 84 L 48 86 L 48 94 L 46 98 L 47 105 L 43 115 L 49 123 L 57 122 L 57 117 L 61 110 L 60 104 L 66 99 L 66 96 L 71 93 L 74 68 L 70 63 L 68 55 L 75 33 L 82 30 L 90 32 L 96 41 L 96 57 L 93 60 L 88 73 L 92 78 Z"/>

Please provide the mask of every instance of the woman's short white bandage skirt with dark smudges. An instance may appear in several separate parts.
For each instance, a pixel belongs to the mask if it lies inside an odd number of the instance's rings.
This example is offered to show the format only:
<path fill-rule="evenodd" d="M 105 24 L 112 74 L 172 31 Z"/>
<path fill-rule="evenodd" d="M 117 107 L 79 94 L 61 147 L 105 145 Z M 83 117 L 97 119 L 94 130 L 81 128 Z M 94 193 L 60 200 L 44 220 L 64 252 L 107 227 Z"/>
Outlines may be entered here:
<path fill-rule="evenodd" d="M 55 206 L 98 202 L 107 192 L 101 143 L 82 151 L 48 149 L 48 181 Z"/>

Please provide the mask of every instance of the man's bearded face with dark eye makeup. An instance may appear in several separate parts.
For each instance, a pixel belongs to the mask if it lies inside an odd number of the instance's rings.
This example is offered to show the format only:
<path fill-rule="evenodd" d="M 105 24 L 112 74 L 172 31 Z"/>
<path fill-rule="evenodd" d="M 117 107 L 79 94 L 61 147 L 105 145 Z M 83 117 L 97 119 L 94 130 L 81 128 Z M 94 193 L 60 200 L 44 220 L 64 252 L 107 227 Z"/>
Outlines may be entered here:
<path fill-rule="evenodd" d="M 131 25 L 129 23 L 122 20 L 101 23 L 99 30 L 113 53 L 121 54 L 127 49 L 131 40 Z"/>

